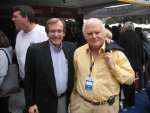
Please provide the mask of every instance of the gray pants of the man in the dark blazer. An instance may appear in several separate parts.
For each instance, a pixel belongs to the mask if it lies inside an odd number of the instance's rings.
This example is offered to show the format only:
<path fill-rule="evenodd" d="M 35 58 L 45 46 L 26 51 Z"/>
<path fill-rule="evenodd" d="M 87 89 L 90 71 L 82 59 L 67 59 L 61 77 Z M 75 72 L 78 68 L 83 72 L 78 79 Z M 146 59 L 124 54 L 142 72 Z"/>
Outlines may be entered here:
<path fill-rule="evenodd" d="M 57 113 L 67 113 L 66 95 L 64 95 L 58 99 Z"/>

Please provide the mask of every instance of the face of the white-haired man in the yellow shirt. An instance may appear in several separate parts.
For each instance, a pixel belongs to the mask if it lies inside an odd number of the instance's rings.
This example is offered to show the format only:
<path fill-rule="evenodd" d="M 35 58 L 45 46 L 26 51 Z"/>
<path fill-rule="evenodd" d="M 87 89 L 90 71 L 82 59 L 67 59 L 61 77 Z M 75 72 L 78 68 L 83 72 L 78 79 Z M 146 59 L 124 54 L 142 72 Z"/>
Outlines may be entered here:
<path fill-rule="evenodd" d="M 86 25 L 85 39 L 92 49 L 98 49 L 105 41 L 105 29 L 99 22 L 91 22 Z"/>

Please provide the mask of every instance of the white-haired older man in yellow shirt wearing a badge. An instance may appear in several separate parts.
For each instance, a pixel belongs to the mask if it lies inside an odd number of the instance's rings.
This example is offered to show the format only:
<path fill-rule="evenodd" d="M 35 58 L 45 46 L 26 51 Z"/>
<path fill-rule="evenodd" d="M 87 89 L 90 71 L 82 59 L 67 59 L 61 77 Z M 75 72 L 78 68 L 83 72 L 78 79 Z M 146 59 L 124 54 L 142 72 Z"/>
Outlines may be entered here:
<path fill-rule="evenodd" d="M 74 53 L 71 113 L 118 113 L 120 84 L 132 84 L 134 71 L 122 51 L 106 52 L 105 27 L 100 19 L 88 19 L 83 34 L 87 44 Z"/>

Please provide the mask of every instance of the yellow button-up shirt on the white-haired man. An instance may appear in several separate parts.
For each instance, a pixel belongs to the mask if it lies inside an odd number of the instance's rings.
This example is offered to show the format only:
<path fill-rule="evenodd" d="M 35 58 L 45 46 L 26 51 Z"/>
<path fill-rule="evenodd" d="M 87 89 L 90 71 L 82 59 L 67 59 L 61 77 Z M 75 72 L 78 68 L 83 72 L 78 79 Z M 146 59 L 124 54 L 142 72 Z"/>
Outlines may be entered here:
<path fill-rule="evenodd" d="M 108 100 L 110 96 L 118 95 L 120 84 L 132 84 L 135 79 L 134 71 L 124 53 L 119 50 L 112 50 L 115 66 L 110 69 L 105 62 L 104 48 L 105 43 L 99 50 L 92 68 L 92 91 L 85 90 L 85 81 L 90 74 L 91 66 L 88 44 L 76 49 L 74 53 L 75 90 L 86 99 L 95 102 Z"/>

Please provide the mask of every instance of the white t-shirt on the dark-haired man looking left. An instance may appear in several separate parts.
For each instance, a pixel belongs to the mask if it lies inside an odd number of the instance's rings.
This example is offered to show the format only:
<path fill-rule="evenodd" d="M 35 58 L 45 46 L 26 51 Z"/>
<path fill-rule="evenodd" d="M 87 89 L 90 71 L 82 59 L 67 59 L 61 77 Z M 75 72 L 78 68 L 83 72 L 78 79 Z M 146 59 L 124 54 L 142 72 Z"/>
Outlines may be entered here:
<path fill-rule="evenodd" d="M 48 40 L 48 37 L 45 32 L 45 27 L 38 24 L 36 24 L 36 26 L 30 32 L 26 33 L 21 30 L 17 34 L 15 50 L 19 64 L 20 77 L 22 79 L 25 77 L 24 66 L 28 47 L 30 44 L 39 43 L 46 40 Z"/>

